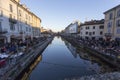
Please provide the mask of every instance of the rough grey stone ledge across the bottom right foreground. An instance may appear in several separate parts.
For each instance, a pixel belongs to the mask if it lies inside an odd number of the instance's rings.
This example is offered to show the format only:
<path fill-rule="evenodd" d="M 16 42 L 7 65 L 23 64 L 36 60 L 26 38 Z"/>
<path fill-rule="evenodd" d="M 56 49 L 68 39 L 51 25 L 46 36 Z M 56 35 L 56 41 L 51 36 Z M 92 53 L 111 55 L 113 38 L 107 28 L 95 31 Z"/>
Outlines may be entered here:
<path fill-rule="evenodd" d="M 120 80 L 120 72 L 105 73 L 105 74 L 84 76 L 80 78 L 71 78 L 64 80 Z"/>

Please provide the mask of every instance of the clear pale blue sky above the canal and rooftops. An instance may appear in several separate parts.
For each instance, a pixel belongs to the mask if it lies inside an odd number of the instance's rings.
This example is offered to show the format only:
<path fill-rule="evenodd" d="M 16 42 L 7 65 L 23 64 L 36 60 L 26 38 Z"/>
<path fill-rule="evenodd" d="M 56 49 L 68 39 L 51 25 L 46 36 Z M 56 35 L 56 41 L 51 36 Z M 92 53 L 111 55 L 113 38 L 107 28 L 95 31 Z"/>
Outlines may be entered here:
<path fill-rule="evenodd" d="M 103 13 L 119 5 L 120 0 L 21 0 L 21 4 L 41 18 L 42 27 L 57 32 L 76 20 L 103 19 Z"/>

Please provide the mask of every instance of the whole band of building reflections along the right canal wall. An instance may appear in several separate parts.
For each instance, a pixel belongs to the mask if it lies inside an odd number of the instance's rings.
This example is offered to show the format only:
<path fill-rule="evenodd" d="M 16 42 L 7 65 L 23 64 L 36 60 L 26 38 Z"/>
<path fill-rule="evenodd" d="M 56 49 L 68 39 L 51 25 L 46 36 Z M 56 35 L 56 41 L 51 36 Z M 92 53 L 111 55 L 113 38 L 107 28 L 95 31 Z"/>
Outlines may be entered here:
<path fill-rule="evenodd" d="M 88 65 L 89 70 L 95 71 L 97 74 L 113 72 L 117 70 L 115 67 L 112 67 L 111 65 L 105 63 L 104 61 L 97 58 L 96 56 L 90 53 L 87 53 L 85 50 L 75 45 L 73 46 L 68 41 L 64 40 L 64 42 L 67 48 L 71 51 L 74 58 L 77 58 L 79 56 L 80 59 L 87 60 L 87 61 L 84 61 L 85 64 L 88 64 L 87 62 L 90 62 L 90 64 Z"/>

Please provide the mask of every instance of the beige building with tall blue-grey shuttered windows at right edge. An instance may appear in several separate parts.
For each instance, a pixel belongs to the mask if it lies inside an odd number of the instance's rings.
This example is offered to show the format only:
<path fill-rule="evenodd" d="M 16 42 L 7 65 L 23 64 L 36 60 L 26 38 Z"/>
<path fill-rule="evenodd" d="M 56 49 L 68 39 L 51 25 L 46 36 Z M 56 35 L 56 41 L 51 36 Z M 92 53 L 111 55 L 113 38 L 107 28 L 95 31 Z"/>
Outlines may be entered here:
<path fill-rule="evenodd" d="M 105 14 L 105 39 L 120 39 L 120 5 L 104 12 Z"/>

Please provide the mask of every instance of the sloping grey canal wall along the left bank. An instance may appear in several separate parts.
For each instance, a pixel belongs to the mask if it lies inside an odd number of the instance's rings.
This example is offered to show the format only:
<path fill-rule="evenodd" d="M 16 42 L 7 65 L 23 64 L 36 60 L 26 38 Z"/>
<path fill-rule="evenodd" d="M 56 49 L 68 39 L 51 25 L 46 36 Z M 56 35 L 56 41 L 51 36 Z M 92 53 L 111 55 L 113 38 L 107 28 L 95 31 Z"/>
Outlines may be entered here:
<path fill-rule="evenodd" d="M 33 46 L 29 53 L 20 58 L 17 63 L 10 67 L 7 72 L 0 77 L 0 80 L 17 80 L 16 78 L 42 53 L 53 38 L 47 38 L 45 41 Z"/>

